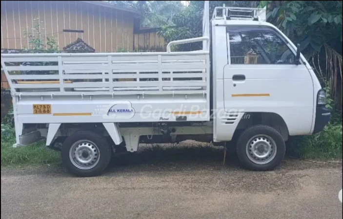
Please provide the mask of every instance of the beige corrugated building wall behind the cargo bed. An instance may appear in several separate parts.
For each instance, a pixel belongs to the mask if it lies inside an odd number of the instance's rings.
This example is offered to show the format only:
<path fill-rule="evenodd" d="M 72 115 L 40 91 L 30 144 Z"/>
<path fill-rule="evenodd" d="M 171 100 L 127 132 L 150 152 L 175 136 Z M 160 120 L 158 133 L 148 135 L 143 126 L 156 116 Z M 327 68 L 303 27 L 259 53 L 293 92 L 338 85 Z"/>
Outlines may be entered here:
<path fill-rule="evenodd" d="M 163 38 L 156 32 L 134 37 L 134 15 L 81 1 L 1 1 L 1 48 L 27 48 L 24 30 L 32 32 L 34 18 L 39 18 L 40 32 L 46 37 L 55 37 L 60 50 L 80 37 L 96 52 L 141 48 L 164 51 Z M 65 33 L 63 29 L 84 33 Z"/>

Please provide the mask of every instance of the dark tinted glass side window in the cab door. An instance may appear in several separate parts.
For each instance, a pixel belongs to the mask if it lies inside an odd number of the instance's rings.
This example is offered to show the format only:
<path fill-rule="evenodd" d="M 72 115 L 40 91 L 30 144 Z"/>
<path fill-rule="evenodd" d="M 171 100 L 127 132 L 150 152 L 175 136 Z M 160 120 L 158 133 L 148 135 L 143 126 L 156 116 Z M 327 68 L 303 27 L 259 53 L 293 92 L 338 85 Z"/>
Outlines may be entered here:
<path fill-rule="evenodd" d="M 228 29 L 231 64 L 295 64 L 286 43 L 267 28 Z"/>

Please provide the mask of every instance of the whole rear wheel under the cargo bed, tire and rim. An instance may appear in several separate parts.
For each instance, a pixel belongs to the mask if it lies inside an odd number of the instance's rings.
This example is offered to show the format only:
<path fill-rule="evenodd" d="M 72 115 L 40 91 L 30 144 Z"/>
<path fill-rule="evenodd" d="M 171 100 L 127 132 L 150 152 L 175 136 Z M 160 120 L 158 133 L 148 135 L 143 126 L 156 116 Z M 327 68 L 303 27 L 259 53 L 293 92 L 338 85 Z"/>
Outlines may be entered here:
<path fill-rule="evenodd" d="M 80 131 L 63 143 L 61 159 L 74 175 L 92 177 L 102 173 L 111 160 L 112 148 L 99 134 Z"/>

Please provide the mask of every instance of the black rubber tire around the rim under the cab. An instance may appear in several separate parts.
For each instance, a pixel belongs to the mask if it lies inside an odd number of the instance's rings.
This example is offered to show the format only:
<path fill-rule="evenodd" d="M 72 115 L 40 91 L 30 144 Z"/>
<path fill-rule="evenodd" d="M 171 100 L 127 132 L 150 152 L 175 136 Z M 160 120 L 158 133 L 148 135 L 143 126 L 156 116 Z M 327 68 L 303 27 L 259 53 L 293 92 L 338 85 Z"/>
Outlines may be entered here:
<path fill-rule="evenodd" d="M 247 151 L 247 144 L 249 143 L 251 138 L 258 135 L 266 135 L 270 137 L 272 140 L 274 140 L 276 144 L 275 157 L 272 160 L 270 160 L 267 164 L 256 164 L 250 160 L 247 154 L 249 153 Z M 285 155 L 285 151 L 286 146 L 282 138 L 282 135 L 275 128 L 265 125 L 255 125 L 246 128 L 242 132 L 237 141 L 237 156 L 241 161 L 242 165 L 249 170 L 267 171 L 274 169 L 275 167 L 281 164 Z"/>

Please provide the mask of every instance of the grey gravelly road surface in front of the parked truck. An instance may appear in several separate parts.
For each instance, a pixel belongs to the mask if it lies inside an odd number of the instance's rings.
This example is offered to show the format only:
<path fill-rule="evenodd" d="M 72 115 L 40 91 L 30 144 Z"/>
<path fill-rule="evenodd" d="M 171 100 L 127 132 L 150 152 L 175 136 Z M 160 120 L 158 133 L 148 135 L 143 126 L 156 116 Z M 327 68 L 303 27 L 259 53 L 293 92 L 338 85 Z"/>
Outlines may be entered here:
<path fill-rule="evenodd" d="M 251 172 L 221 156 L 124 156 L 94 178 L 1 168 L 1 219 L 342 219 L 342 164 Z"/>

